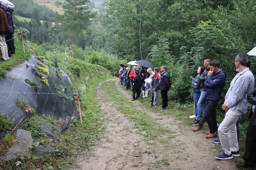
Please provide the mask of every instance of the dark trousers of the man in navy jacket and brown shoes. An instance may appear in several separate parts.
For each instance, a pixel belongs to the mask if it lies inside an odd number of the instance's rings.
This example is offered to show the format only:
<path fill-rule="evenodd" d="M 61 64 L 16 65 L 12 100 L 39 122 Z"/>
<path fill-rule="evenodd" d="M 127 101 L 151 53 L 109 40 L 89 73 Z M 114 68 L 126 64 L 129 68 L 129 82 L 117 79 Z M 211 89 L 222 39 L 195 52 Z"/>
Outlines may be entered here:
<path fill-rule="evenodd" d="M 218 131 L 216 118 L 216 106 L 218 103 L 219 101 L 207 100 L 207 106 L 204 111 L 204 118 L 208 123 L 210 133 L 215 133 L 216 131 Z"/>

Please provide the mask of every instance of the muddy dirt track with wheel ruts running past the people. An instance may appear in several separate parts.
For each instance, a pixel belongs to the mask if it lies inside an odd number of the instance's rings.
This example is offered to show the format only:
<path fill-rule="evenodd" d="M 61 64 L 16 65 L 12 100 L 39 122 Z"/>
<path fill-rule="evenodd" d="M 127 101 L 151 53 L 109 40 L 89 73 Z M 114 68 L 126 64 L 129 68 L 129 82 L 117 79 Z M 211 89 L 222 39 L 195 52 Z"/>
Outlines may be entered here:
<path fill-rule="evenodd" d="M 116 79 L 111 81 L 115 81 L 116 88 L 120 93 L 124 96 L 131 96 L 130 93 L 120 87 Z M 167 136 L 160 136 L 160 138 L 168 140 L 168 143 L 145 141 L 143 136 L 145 134 L 134 128 L 134 122 L 119 113 L 115 107 L 112 107 L 112 103 L 105 101 L 101 92 L 103 83 L 98 86 L 97 97 L 107 120 L 105 121 L 107 133 L 102 136 L 93 149 L 80 155 L 68 169 L 237 169 L 233 160 L 214 158 L 215 155 L 220 154 L 221 147 L 220 144 L 212 143 L 212 139 L 205 138 L 204 132 L 207 130 L 207 126 L 204 127 L 204 131 L 193 132 L 194 126 L 182 124 L 171 114 L 160 114 L 160 112 L 167 111 L 141 107 L 139 101 L 134 101 L 134 107 L 155 120 L 159 124 L 159 128 L 175 132 L 172 134 L 172 138 L 167 139 Z M 151 145 L 152 143 L 154 144 Z M 242 160 L 242 157 L 236 159 Z"/>

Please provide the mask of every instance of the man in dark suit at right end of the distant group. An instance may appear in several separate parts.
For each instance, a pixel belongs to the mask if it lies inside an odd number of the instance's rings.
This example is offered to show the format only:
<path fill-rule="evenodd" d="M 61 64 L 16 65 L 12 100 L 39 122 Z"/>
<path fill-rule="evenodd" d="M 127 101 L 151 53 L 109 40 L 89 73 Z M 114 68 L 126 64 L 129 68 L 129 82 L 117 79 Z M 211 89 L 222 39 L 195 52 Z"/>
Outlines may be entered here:
<path fill-rule="evenodd" d="M 161 67 L 161 78 L 160 78 L 160 90 L 161 90 L 161 96 L 162 96 L 162 107 L 159 109 L 165 109 L 168 106 L 168 95 L 167 92 L 170 90 L 171 87 L 171 78 L 170 74 L 167 72 L 167 67 L 162 66 Z"/>

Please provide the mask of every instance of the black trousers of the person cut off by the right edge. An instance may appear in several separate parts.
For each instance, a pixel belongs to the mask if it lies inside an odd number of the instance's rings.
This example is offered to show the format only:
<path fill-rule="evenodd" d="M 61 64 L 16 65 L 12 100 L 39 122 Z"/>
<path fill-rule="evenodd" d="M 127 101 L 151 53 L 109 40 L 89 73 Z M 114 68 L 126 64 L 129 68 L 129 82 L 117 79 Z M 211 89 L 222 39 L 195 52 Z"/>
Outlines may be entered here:
<path fill-rule="evenodd" d="M 253 118 L 251 119 L 245 140 L 245 154 L 244 161 L 248 165 L 256 164 L 256 125 L 253 125 Z"/>

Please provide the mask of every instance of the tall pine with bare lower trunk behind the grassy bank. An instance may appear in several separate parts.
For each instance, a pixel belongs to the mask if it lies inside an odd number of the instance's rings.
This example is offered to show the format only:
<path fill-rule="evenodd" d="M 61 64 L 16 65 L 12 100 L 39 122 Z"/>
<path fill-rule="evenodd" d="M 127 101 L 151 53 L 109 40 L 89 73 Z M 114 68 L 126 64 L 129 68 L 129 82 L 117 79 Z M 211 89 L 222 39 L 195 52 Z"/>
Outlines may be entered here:
<path fill-rule="evenodd" d="M 72 39 L 74 53 L 76 34 L 88 28 L 90 19 L 95 17 L 97 12 L 90 13 L 91 10 L 88 10 L 88 6 L 85 5 L 88 0 L 66 0 L 65 2 L 67 4 L 59 2 L 65 12 L 63 15 L 57 14 L 56 18 L 63 21 L 62 26 L 68 31 L 66 35 Z"/>

